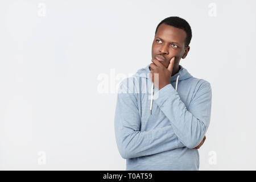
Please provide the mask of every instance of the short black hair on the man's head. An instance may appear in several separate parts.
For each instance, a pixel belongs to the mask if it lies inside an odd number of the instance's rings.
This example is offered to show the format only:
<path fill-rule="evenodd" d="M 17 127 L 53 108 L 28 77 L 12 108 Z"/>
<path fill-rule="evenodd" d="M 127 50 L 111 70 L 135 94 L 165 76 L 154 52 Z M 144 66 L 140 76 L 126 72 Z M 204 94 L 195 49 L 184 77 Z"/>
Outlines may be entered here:
<path fill-rule="evenodd" d="M 190 25 L 188 24 L 188 22 L 186 20 L 184 20 L 183 18 L 180 18 L 178 16 L 170 16 L 166 19 L 163 19 L 156 27 L 155 35 L 156 35 L 156 31 L 158 31 L 158 27 L 160 26 L 160 24 L 163 24 L 163 23 L 168 24 L 170 26 L 174 26 L 176 28 L 183 29 L 187 34 L 187 37 L 185 39 L 185 47 L 189 46 L 189 43 L 192 38 L 192 31 L 191 31 Z"/>

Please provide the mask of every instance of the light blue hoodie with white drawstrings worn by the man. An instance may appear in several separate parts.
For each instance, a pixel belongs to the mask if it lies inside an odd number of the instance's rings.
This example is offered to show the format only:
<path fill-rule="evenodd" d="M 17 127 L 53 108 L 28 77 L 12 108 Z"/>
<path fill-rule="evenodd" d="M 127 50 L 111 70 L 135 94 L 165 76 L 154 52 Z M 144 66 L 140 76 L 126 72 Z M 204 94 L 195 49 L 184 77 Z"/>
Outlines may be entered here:
<path fill-rule="evenodd" d="M 211 86 L 179 65 L 170 84 L 158 90 L 149 67 L 119 84 L 114 127 L 126 170 L 199 170 L 193 148 L 209 127 Z"/>

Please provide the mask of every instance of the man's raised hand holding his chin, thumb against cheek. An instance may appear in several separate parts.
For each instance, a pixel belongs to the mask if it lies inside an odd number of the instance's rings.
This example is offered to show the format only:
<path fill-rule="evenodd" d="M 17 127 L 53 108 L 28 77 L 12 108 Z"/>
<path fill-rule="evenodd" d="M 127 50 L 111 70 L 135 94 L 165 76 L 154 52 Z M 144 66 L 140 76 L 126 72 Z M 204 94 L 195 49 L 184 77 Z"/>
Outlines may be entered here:
<path fill-rule="evenodd" d="M 172 57 L 168 68 L 164 67 L 164 65 L 156 59 L 153 59 L 152 60 L 153 63 L 150 64 L 150 67 L 151 67 L 150 80 L 154 82 L 154 85 L 156 85 L 156 87 L 158 87 L 159 90 L 162 89 L 164 86 L 170 84 L 171 76 L 172 76 L 172 68 L 174 68 L 174 59 L 175 57 Z M 158 84 L 157 84 L 157 80 L 154 80 L 154 73 L 159 74 Z"/>

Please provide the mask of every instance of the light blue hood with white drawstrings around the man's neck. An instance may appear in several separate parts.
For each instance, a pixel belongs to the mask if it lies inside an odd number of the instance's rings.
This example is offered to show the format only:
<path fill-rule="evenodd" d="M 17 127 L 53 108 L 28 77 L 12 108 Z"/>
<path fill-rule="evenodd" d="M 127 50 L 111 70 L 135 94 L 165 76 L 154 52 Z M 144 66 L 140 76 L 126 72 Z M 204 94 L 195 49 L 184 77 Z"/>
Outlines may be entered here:
<path fill-rule="evenodd" d="M 149 77 L 149 73 L 150 73 L 150 64 L 147 65 L 147 67 L 139 69 L 137 71 L 137 73 L 135 73 L 134 76 L 137 77 L 142 77 L 142 78 L 147 78 L 150 80 Z M 179 65 L 179 72 L 177 72 L 175 75 L 171 76 L 171 81 L 170 84 L 172 82 L 176 81 L 176 86 L 175 86 L 175 91 L 177 91 L 177 85 L 179 81 L 182 80 L 186 80 L 188 78 L 192 77 L 190 75 L 190 73 L 187 71 L 187 69 L 185 69 L 184 67 L 182 67 L 181 65 Z M 151 81 L 151 80 L 150 80 Z M 153 104 L 153 98 L 154 98 L 154 83 L 152 82 L 152 86 L 151 86 L 151 102 L 150 102 L 150 114 L 152 114 L 152 104 Z"/>

